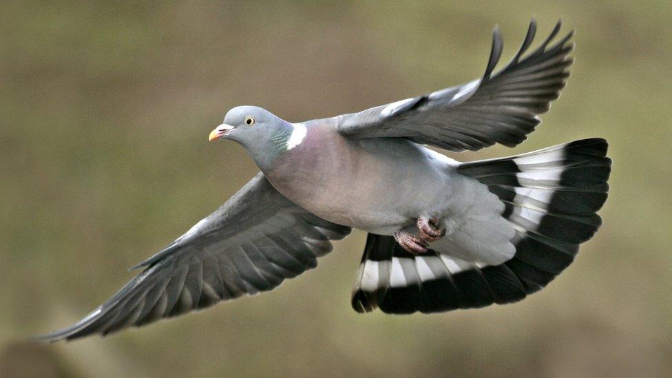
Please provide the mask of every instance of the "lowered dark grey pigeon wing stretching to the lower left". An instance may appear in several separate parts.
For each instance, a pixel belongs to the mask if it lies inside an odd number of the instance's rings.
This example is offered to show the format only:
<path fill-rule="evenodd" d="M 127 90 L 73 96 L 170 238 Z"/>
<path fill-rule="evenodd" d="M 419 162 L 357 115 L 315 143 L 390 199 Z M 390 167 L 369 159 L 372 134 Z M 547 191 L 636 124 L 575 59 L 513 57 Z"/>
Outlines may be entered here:
<path fill-rule="evenodd" d="M 317 265 L 350 233 L 297 206 L 260 173 L 166 249 L 105 304 L 43 341 L 106 335 L 268 291 Z"/>

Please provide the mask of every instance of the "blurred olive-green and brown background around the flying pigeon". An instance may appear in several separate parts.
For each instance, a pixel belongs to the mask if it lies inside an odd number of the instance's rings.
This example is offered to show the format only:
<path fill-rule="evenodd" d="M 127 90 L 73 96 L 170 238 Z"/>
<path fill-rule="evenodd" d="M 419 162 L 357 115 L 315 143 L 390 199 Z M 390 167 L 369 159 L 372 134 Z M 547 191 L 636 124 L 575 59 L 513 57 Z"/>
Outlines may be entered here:
<path fill-rule="evenodd" d="M 3 1 L 0 376 L 662 376 L 672 374 L 670 1 L 333 3 Z M 611 143 L 605 224 L 518 304 L 358 315 L 365 234 L 273 293 L 101 339 L 36 346 L 257 171 L 207 143 L 235 105 L 290 121 L 479 76 L 501 26 L 576 28 L 560 100 L 516 149 Z"/>

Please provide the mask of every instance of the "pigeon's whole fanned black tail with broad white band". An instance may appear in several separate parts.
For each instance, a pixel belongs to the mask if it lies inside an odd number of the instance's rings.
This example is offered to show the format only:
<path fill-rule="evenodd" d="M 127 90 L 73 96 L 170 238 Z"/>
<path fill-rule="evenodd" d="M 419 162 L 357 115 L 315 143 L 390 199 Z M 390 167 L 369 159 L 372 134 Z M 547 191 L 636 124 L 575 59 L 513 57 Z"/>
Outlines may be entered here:
<path fill-rule="evenodd" d="M 353 307 L 431 313 L 518 302 L 539 291 L 602 224 L 596 211 L 609 191 L 607 147 L 593 138 L 460 165 L 460 174 L 476 178 L 505 204 L 502 216 L 516 229 L 514 257 L 487 266 L 450 257 L 450 251 L 412 255 L 390 236 L 369 234 Z"/>

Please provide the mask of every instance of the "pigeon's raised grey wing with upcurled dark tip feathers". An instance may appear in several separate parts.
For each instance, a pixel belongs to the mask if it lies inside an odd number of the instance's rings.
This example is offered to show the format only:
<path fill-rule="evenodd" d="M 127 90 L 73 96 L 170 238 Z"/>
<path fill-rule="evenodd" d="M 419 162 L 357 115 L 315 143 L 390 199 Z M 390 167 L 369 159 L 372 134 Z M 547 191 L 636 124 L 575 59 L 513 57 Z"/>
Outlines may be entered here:
<path fill-rule="evenodd" d="M 541 122 L 538 114 L 548 111 L 569 76 L 573 32 L 550 45 L 559 30 L 560 21 L 536 50 L 523 56 L 536 33 L 532 19 L 512 61 L 493 73 L 503 48 L 501 33 L 495 28 L 482 78 L 338 116 L 338 131 L 350 138 L 408 138 L 451 151 L 477 151 L 495 143 L 518 145 Z"/>

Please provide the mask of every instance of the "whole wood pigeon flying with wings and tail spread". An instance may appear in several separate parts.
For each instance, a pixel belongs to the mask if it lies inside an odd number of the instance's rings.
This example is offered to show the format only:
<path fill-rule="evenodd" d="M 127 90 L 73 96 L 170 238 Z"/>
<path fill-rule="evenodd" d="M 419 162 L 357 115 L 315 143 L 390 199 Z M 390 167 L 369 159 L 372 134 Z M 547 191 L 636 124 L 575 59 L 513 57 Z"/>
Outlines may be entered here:
<path fill-rule="evenodd" d="M 210 140 L 240 143 L 260 172 L 156 255 L 107 302 L 48 342 L 107 335 L 269 291 L 315 268 L 331 241 L 368 233 L 352 306 L 435 313 L 523 300 L 560 274 L 600 227 L 611 160 L 601 138 L 457 162 L 428 149 L 514 147 L 569 76 L 560 22 L 481 78 L 333 118 L 289 123 L 260 107 L 224 116 Z M 556 40 L 555 42 L 553 42 Z M 553 43 L 552 43 L 553 42 Z"/>

